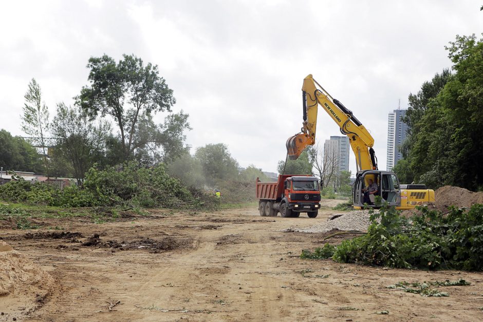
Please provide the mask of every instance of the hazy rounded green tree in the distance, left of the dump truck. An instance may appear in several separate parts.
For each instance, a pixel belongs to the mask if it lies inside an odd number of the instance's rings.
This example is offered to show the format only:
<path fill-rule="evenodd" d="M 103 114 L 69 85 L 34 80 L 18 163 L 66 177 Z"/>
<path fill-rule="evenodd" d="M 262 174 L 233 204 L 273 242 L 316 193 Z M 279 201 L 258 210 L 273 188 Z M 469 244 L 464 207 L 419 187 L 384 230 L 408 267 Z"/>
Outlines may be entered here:
<path fill-rule="evenodd" d="M 235 179 L 238 176 L 238 162 L 232 158 L 223 143 L 207 144 L 196 149 L 195 157 L 201 162 L 209 183 L 217 180 Z"/>

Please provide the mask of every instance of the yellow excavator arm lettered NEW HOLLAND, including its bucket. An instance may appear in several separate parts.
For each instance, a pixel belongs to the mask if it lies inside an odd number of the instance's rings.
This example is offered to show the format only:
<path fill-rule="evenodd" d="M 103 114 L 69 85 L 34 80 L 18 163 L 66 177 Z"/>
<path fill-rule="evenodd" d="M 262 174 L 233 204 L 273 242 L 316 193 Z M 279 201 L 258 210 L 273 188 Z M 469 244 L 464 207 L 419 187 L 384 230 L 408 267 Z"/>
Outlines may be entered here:
<path fill-rule="evenodd" d="M 377 159 L 374 153 L 374 139 L 367 129 L 356 119 L 352 112 L 308 75 L 302 86 L 303 127 L 301 133 L 287 140 L 287 154 L 290 160 L 296 160 L 302 151 L 315 144 L 318 105 L 327 112 L 340 127 L 342 134 L 349 137 L 349 143 L 356 155 L 357 171 L 376 170 Z"/>

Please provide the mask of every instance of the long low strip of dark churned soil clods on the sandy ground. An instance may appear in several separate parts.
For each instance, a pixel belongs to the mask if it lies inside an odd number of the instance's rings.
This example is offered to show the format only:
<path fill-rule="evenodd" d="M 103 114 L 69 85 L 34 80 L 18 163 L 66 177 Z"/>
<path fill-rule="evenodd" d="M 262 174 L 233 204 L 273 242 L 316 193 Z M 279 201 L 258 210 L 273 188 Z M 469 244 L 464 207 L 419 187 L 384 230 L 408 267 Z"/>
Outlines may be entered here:
<path fill-rule="evenodd" d="M 146 237 L 134 241 L 102 240 L 99 234 L 94 234 L 87 238 L 81 245 L 84 247 L 113 248 L 119 249 L 120 251 L 144 249 L 150 251 L 150 253 L 160 253 L 178 248 L 191 248 L 192 243 L 193 241 L 191 239 L 174 238 L 172 236 L 161 239 Z"/>

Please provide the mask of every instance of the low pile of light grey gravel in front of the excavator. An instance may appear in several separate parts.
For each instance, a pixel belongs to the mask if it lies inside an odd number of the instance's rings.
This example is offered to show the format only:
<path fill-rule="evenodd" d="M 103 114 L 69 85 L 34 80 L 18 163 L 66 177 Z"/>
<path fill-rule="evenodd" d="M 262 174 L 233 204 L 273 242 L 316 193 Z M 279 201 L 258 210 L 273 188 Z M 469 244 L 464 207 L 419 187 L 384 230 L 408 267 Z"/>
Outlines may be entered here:
<path fill-rule="evenodd" d="M 365 232 L 370 223 L 369 216 L 368 210 L 355 210 L 336 219 L 328 220 L 307 228 L 294 229 L 294 231 L 301 233 L 324 233 L 337 228 L 344 231 L 358 230 Z"/>

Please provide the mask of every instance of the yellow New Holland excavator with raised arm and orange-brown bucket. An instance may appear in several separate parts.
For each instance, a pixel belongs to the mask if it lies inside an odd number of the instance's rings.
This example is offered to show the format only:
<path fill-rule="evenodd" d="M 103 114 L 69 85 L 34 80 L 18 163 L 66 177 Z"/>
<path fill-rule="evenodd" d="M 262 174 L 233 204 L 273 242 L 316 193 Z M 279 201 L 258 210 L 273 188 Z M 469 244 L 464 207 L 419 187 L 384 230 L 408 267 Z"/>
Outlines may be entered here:
<path fill-rule="evenodd" d="M 396 209 L 413 209 L 423 202 L 434 202 L 434 191 L 427 189 L 424 184 L 399 184 L 396 174 L 380 171 L 377 167 L 377 158 L 374 138 L 362 123 L 352 115 L 340 101 L 332 98 L 330 94 L 315 81 L 312 75 L 304 79 L 302 86 L 303 96 L 303 127 L 299 134 L 287 140 L 287 156 L 296 160 L 309 145 L 315 144 L 315 131 L 317 128 L 317 112 L 319 104 L 340 127 L 342 134 L 349 138 L 349 143 L 356 156 L 357 175 L 352 185 L 352 202 L 355 209 L 362 209 L 364 203 L 369 207 L 377 207 L 374 202 L 367 202 L 364 198 L 365 187 L 372 180 L 378 185 L 376 195 Z"/>

